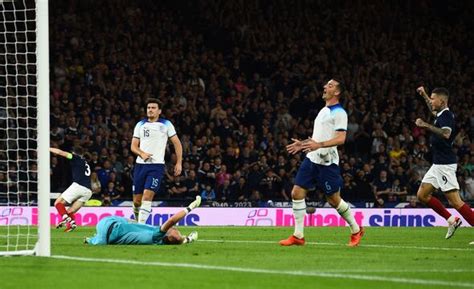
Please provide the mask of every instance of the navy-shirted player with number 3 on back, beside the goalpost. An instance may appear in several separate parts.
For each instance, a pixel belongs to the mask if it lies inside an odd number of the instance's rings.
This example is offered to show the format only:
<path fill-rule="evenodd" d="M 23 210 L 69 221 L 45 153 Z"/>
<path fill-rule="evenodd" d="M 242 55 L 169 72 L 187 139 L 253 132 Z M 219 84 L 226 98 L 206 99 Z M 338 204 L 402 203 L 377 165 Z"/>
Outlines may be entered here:
<path fill-rule="evenodd" d="M 71 161 L 72 184 L 54 202 L 56 210 L 62 216 L 62 221 L 58 223 L 56 228 L 61 228 L 65 225 L 66 229 L 64 231 L 70 232 L 77 227 L 74 213 L 92 196 L 91 168 L 82 157 L 83 151 L 80 147 L 74 148 L 74 153 L 65 152 L 57 148 L 50 148 L 49 151 Z M 67 210 L 66 205 L 69 206 Z"/>

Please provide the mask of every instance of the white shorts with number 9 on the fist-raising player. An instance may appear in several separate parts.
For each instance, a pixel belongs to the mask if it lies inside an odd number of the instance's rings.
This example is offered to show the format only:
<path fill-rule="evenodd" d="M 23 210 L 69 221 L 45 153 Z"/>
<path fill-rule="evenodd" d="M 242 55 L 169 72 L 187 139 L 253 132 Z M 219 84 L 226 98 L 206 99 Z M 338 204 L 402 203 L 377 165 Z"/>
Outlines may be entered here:
<path fill-rule="evenodd" d="M 459 190 L 459 184 L 456 178 L 457 167 L 457 164 L 432 165 L 421 182 L 431 184 L 443 192 Z"/>

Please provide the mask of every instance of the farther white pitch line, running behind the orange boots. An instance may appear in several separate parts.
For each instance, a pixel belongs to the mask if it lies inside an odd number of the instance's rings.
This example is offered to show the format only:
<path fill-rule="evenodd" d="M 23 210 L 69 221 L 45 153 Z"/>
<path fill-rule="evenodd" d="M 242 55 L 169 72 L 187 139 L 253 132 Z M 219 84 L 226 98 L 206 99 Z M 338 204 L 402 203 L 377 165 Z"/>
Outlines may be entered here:
<path fill-rule="evenodd" d="M 255 244 L 278 244 L 277 241 L 255 241 L 255 240 L 212 240 L 199 239 L 198 242 L 212 242 L 212 243 L 255 243 Z M 325 246 L 344 246 L 340 243 L 325 243 L 325 242 L 306 242 L 308 245 L 325 245 Z M 472 251 L 470 248 L 443 248 L 443 247 L 419 247 L 419 246 L 396 246 L 396 245 L 374 245 L 374 244 L 360 244 L 359 247 L 369 248 L 386 248 L 386 249 L 416 249 L 416 250 L 442 250 L 442 251 Z"/>

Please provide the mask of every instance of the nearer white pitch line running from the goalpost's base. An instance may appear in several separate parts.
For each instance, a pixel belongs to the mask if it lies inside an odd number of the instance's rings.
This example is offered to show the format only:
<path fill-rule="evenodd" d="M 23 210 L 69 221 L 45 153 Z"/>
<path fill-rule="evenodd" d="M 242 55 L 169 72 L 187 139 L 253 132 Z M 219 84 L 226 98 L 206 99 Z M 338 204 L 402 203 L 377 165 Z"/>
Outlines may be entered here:
<path fill-rule="evenodd" d="M 178 268 L 202 269 L 202 270 L 212 270 L 212 271 L 219 270 L 219 271 L 232 271 L 232 272 L 242 272 L 242 273 L 263 273 L 263 274 L 275 274 L 275 275 L 321 277 L 321 278 L 334 278 L 334 279 L 353 279 L 353 280 L 364 280 L 364 281 L 380 281 L 380 282 L 391 282 L 391 283 L 432 285 L 432 286 L 443 286 L 443 287 L 474 288 L 474 283 L 447 282 L 447 281 L 441 281 L 441 280 L 423 280 L 423 279 L 408 279 L 408 278 L 383 277 L 383 276 L 367 276 L 367 275 L 356 275 L 356 274 L 271 270 L 271 269 L 258 269 L 258 268 L 240 268 L 240 267 L 212 266 L 212 265 L 190 264 L 190 263 L 144 262 L 144 261 L 120 260 L 120 259 L 98 259 L 98 258 L 84 258 L 84 257 L 62 256 L 62 255 L 51 256 L 51 258 L 63 259 L 63 260 L 75 260 L 75 261 L 83 261 L 83 262 L 115 263 L 115 264 L 127 264 L 127 265 L 136 264 L 136 265 L 146 265 L 146 266 L 178 267 Z"/>

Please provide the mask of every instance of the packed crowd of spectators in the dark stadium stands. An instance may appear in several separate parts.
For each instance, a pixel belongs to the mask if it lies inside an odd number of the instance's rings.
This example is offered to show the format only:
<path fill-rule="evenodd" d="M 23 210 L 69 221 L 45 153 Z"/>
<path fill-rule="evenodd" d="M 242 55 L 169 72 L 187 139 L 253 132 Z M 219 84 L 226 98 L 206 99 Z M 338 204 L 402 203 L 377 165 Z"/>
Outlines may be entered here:
<path fill-rule="evenodd" d="M 337 75 L 349 91 L 339 148 L 347 201 L 419 206 L 430 165 L 429 135 L 415 126 L 429 114 L 420 85 L 450 90 L 460 192 L 474 199 L 472 3 L 189 2 L 50 4 L 51 141 L 89 152 L 92 198 L 131 199 L 133 128 L 157 97 L 184 161 L 173 177 L 167 154 L 155 199 L 290 201 L 304 155 L 285 147 L 311 135 L 322 86 Z M 67 162 L 52 156 L 51 165 L 52 190 L 62 191 Z"/>

